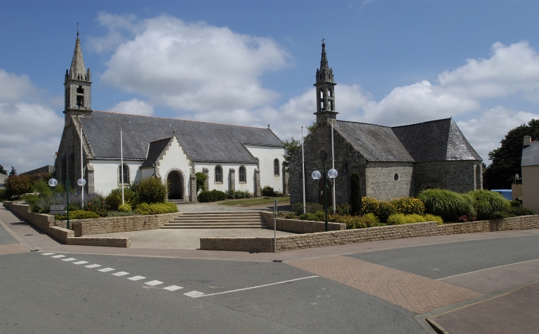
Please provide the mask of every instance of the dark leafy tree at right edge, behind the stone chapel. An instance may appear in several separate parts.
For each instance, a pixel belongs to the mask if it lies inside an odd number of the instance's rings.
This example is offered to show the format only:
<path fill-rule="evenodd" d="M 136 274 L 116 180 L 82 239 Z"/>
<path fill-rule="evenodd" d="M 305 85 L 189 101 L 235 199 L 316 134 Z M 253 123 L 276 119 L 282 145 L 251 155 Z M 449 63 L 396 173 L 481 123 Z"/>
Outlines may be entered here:
<path fill-rule="evenodd" d="M 500 148 L 488 153 L 488 160 L 492 160 L 492 163 L 484 173 L 486 188 L 511 188 L 514 175 L 522 175 L 520 163 L 524 136 L 531 136 L 532 140 L 539 139 L 539 120 L 530 120 L 528 125 L 523 124 L 510 130 L 502 139 Z"/>

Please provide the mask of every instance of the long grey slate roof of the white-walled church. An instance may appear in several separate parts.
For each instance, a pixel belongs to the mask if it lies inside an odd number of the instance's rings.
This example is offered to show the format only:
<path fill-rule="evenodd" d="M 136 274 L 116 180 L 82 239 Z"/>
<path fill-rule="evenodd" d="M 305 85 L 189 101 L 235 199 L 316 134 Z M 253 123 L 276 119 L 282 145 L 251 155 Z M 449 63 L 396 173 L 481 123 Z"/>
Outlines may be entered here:
<path fill-rule="evenodd" d="M 204 123 L 93 111 L 80 117 L 84 134 L 95 158 L 120 157 L 120 127 L 124 159 L 146 159 L 148 143 L 176 137 L 194 162 L 256 162 L 243 144 L 284 147 L 267 128 Z M 242 144 L 243 143 L 243 144 Z"/>

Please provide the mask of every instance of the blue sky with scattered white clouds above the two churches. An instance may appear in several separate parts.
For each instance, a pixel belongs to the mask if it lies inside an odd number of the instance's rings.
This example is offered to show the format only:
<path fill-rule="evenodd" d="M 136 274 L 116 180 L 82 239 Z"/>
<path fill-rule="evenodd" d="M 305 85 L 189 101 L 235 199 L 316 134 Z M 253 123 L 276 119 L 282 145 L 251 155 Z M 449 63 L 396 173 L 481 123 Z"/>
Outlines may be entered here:
<path fill-rule="evenodd" d="M 300 139 L 325 39 L 338 119 L 452 117 L 489 165 L 539 118 L 538 13 L 519 0 L 0 0 L 0 165 L 54 164 L 77 22 L 93 110 Z"/>

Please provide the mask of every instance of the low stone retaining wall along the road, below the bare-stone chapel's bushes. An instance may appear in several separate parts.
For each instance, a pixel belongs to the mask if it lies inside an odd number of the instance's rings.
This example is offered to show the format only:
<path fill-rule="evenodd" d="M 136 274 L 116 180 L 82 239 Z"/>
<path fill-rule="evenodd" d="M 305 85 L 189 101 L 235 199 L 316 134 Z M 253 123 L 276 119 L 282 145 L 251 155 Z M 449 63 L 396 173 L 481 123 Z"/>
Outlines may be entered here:
<path fill-rule="evenodd" d="M 450 223 L 445 225 L 437 225 L 437 223 L 431 221 L 427 223 L 380 226 L 377 228 L 286 235 L 277 237 L 277 251 L 408 237 L 527 230 L 531 228 L 539 228 L 538 215 L 497 219 L 493 221 Z M 273 251 L 273 238 L 248 238 L 250 239 L 248 242 L 245 242 L 245 239 L 247 238 L 204 238 L 200 239 L 200 249 L 219 251 Z"/>

